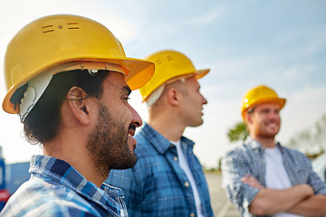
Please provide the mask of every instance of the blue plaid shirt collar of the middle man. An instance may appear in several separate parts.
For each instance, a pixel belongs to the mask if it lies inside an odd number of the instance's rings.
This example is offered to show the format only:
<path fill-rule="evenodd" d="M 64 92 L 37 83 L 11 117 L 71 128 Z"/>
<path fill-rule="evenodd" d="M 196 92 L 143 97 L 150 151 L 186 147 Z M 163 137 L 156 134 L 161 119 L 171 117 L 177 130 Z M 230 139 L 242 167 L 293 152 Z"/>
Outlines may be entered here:
<path fill-rule="evenodd" d="M 150 127 L 147 123 L 145 123 L 140 133 L 149 140 L 149 143 L 154 146 L 158 150 L 158 153 L 161 155 L 165 154 L 168 151 L 168 148 L 171 146 L 171 143 L 166 137 L 160 135 L 154 128 Z M 187 144 L 187 146 L 191 148 L 193 148 L 193 146 L 195 145 L 193 141 L 183 136 L 181 137 L 181 144 L 182 143 Z"/>

